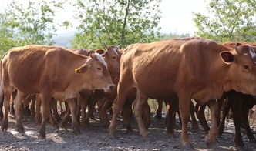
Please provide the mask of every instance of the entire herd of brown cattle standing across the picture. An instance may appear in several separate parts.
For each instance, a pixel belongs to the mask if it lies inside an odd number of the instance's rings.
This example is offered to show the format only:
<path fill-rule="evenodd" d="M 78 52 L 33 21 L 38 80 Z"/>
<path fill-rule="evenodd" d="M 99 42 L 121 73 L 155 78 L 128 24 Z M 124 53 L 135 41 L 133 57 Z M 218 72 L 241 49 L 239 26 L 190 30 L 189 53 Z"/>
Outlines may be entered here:
<path fill-rule="evenodd" d="M 248 122 L 248 111 L 256 104 L 254 43 L 217 44 L 210 39 L 191 37 L 137 43 L 126 49 L 104 46 L 106 52 L 45 45 L 27 45 L 6 52 L 0 67 L 2 130 L 8 129 L 11 110 L 15 111 L 17 130 L 24 132 L 22 114 L 30 104 L 35 122 L 42 120 L 40 139 L 45 138 L 48 119 L 53 127 L 60 122 L 65 128 L 70 114 L 74 133 L 79 134 L 80 126 L 89 126 L 97 103 L 100 121 L 109 128 L 110 135 L 115 134 L 120 112 L 124 126 L 131 130 L 134 112 L 140 134 L 147 136 L 150 126 L 147 99 L 153 98 L 160 105 L 163 101 L 167 104 L 167 133 L 174 133 L 175 115 L 180 112 L 181 142 L 185 149 L 193 149 L 187 124 L 191 116 L 193 126 L 198 128 L 194 112 L 204 127 L 207 146 L 223 133 L 224 119 L 230 109 L 234 115 L 236 149 L 244 149 L 241 127 L 250 141 L 255 142 Z M 191 99 L 197 102 L 196 106 Z M 66 103 L 63 118 L 59 116 L 57 100 Z M 206 105 L 211 109 L 211 128 L 204 116 Z M 112 106 L 109 122 L 107 112 Z M 224 110 L 220 122 L 221 106 Z M 160 106 L 158 118 L 161 109 Z"/>

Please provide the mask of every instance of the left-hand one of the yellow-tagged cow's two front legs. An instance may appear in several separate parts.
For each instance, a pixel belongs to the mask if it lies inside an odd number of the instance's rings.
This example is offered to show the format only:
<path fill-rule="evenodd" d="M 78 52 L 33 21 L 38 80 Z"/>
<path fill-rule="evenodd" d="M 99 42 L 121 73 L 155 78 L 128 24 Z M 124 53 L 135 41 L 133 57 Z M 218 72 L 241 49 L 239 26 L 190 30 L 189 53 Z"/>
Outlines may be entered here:
<path fill-rule="evenodd" d="M 39 130 L 39 139 L 45 139 L 45 125 L 49 119 L 51 96 L 42 92 L 42 124 Z"/>

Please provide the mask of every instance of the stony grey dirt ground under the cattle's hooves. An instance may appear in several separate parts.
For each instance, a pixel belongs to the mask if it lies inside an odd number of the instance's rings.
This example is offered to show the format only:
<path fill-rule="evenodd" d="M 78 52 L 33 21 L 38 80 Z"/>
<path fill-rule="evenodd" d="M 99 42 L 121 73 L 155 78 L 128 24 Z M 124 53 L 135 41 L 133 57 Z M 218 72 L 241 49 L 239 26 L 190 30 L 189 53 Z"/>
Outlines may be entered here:
<path fill-rule="evenodd" d="M 2 124 L 2 122 L 1 122 Z M 88 129 L 81 128 L 81 135 L 75 136 L 69 124 L 68 129 L 52 129 L 46 126 L 46 139 L 37 139 L 39 126 L 32 119 L 23 122 L 25 133 L 15 131 L 15 121 L 10 119 L 8 132 L 0 132 L 0 150 L 182 150 L 180 145 L 180 129 L 176 129 L 176 137 L 167 135 L 164 120 L 151 116 L 150 136 L 143 138 L 137 132 L 137 124 L 133 119 L 133 132 L 126 133 L 121 120 L 117 123 L 116 138 L 109 137 L 99 119 L 92 121 Z M 177 124 L 177 127 L 179 124 Z M 256 133 L 256 127 L 252 127 Z M 204 131 L 200 126 L 197 133 L 189 127 L 190 139 L 197 150 L 234 150 L 234 125 L 226 123 L 224 134 L 217 138 L 212 149 L 204 145 Z M 256 143 L 249 143 L 248 137 L 242 133 L 246 149 L 256 150 Z"/>

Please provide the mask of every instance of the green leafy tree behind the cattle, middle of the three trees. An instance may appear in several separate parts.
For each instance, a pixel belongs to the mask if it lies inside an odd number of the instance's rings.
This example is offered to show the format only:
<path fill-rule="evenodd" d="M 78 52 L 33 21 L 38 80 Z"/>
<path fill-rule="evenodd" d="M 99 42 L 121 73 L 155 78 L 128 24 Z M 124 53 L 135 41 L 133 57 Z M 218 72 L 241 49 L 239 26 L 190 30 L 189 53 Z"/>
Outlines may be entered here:
<path fill-rule="evenodd" d="M 99 49 L 103 42 L 126 46 L 159 39 L 160 1 L 77 1 L 75 17 L 80 23 L 72 47 Z"/>

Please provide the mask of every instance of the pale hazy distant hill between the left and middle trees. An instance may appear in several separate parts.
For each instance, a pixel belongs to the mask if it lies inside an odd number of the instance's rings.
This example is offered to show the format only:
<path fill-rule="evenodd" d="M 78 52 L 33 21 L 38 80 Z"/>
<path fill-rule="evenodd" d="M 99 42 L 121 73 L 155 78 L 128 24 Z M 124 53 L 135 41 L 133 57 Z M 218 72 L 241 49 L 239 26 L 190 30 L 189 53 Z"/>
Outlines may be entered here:
<path fill-rule="evenodd" d="M 61 33 L 52 38 L 55 45 L 63 46 L 66 48 L 71 48 L 71 41 L 74 39 L 75 31 Z"/>

